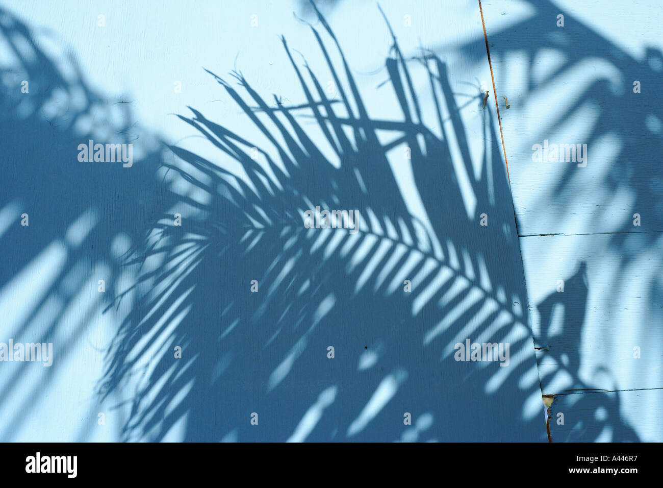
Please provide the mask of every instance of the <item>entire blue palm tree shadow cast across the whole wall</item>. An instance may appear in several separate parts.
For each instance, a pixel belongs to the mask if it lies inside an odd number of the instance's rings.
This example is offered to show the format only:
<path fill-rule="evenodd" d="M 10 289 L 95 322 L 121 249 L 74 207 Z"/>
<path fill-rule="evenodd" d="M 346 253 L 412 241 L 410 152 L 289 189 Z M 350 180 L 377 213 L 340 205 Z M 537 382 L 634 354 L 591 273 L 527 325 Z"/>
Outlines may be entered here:
<path fill-rule="evenodd" d="M 540 12 L 550 14 L 552 4 L 540 5 Z M 164 162 L 160 141 L 150 141 L 135 125 L 130 104 L 112 106 L 112 114 L 72 55 L 60 56 L 65 67 L 54 62 L 26 25 L 0 11 L 1 36 L 18 60 L 0 70 L 2 129 L 12 140 L 2 154 L 7 173 L 0 181 L 0 223 L 15 224 L 24 211 L 30 215 L 30 226 L 20 232 L 0 226 L 3 249 L 11 250 L 11 259 L 0 266 L 0 304 L 12 299 L 5 292 L 25 270 L 36 263 L 41 273 L 30 284 L 25 313 L 9 317 L 15 325 L 11 334 L 17 341 L 54 341 L 58 355 L 71 359 L 101 308 L 120 317 L 101 390 L 106 400 L 125 400 L 118 408 L 130 406 L 121 432 L 125 440 L 162 440 L 177 428 L 186 440 L 543 436 L 538 415 L 528 414 L 535 403 L 538 412 L 541 391 L 530 361 L 522 264 L 512 252 L 517 238 L 511 195 L 501 148 L 493 146 L 498 138 L 491 112 L 482 112 L 485 144 L 477 172 L 446 64 L 431 52 L 406 58 L 394 38 L 385 86 L 402 119 L 371 118 L 339 42 L 314 11 L 324 32 L 312 27 L 312 35 L 339 88 L 337 100 L 330 100 L 306 62 L 294 61 L 283 40 L 303 104 L 267 102 L 241 73 L 233 73 L 245 92 L 241 96 L 213 75 L 269 145 L 253 143 L 197 110 L 182 117 L 240 171 L 175 146 L 170 151 L 176 159 L 169 155 L 172 162 Z M 566 32 L 587 39 L 593 56 L 607 58 L 617 49 L 581 23 Z M 335 53 L 324 33 L 341 56 L 341 69 L 331 61 Z M 542 39 L 565 49 L 554 37 L 535 38 L 523 42 L 532 60 L 544 48 Z M 566 68 L 589 55 L 569 51 Z M 474 52 L 468 49 L 467 55 Z M 650 62 L 643 64 L 617 52 L 611 59 L 621 68 L 655 78 L 660 53 L 651 50 Z M 23 79 L 30 81 L 29 97 L 17 88 Z M 550 82 L 531 79 L 534 88 Z M 432 106 L 416 89 L 422 80 Z M 627 116 L 628 123 L 609 128 L 621 134 L 646 128 L 631 101 L 609 93 L 605 83 L 593 90 L 583 96 L 602 95 L 610 102 L 601 104 L 603 110 Z M 660 110 L 652 96 L 652 107 Z M 469 103 L 481 108 L 482 102 L 477 95 Z M 314 125 L 302 122 L 310 120 Z M 592 140 L 604 129 L 597 125 Z M 72 170 L 78 143 L 109 137 L 109 131 L 117 141 L 145 144 L 141 163 L 131 172 L 119 165 L 78 164 Z M 331 163 L 314 131 L 322 133 L 339 165 Z M 660 141 L 652 143 L 660 147 Z M 454 145 L 459 159 L 452 157 Z M 402 159 L 406 148 L 408 161 Z M 635 161 L 642 151 L 630 147 L 620 157 Z M 411 164 L 416 191 L 402 189 L 394 177 L 398 159 Z M 657 181 L 660 175 L 650 177 Z M 655 200 L 656 187 L 645 185 L 641 174 L 613 172 L 605 178 L 606 185 L 619 182 L 638 191 L 633 208 Z M 566 184 L 560 178 L 560 192 Z M 476 199 L 471 208 L 463 185 Z M 421 202 L 423 216 L 413 215 L 412 201 Z M 357 210 L 359 232 L 305 228 L 302 213 L 315 206 Z M 173 225 L 176 212 L 184 216 L 182 226 Z M 481 213 L 489 216 L 487 228 L 479 226 Z M 653 228 L 660 230 L 660 218 L 656 212 Z M 614 243 L 624 250 L 625 263 L 653 244 L 649 239 L 644 248 L 633 248 L 623 239 L 617 234 Z M 560 299 L 573 295 L 564 327 L 585 325 L 582 276 L 579 268 L 568 280 L 573 293 L 554 293 L 538 305 L 542 324 L 550 323 Z M 105 295 L 97 293 L 100 277 L 107 282 Z M 251 280 L 259 283 L 257 293 L 251 292 Z M 404 291 L 404 280 L 411 281 L 411 292 Z M 660 295 L 660 289 L 652 293 Z M 76 315 L 73 328 L 64 325 L 66 313 Z M 548 332 L 544 325 L 537 347 L 550 343 Z M 511 366 L 453 361 L 453 346 L 466 338 L 510 343 Z M 175 346 L 182 347 L 182 359 L 174 359 Z M 327 357 L 329 346 L 335 359 Z M 596 386 L 579 379 L 577 351 L 537 354 L 540 361 L 553 358 L 557 370 L 574 378 L 574 388 Z M 34 408 L 32 398 L 62 374 L 54 366 L 29 388 L 16 388 L 25 366 L 16 364 L 0 382 L 0 410 L 7 419 L 3 440 L 17 436 L 20 420 Z M 617 440 L 637 440 L 621 420 L 619 393 L 577 396 L 591 415 L 568 440 L 595 440 L 605 425 L 616 426 Z M 97 410 L 91 408 L 93 419 Z M 607 416 L 597 420 L 598 410 Z M 249 422 L 253 412 L 259 413 L 259 427 Z M 411 426 L 402 423 L 405 412 L 412 414 Z M 78 439 L 86 439 L 92 424 Z"/>

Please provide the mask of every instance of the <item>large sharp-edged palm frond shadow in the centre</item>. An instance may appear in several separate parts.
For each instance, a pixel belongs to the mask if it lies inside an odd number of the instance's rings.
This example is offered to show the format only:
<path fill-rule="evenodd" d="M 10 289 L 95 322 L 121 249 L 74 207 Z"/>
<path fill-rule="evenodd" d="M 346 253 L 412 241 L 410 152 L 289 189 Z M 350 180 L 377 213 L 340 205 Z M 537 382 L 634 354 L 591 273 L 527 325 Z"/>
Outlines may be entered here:
<path fill-rule="evenodd" d="M 178 194 L 190 218 L 175 226 L 164 212 L 127 262 L 145 270 L 131 291 L 145 292 L 109 351 L 101 384 L 105 394 L 135 388 L 125 438 L 162 440 L 176 426 L 192 441 L 544 436 L 511 196 L 491 115 L 475 176 L 446 65 L 426 53 L 405 60 L 394 37 L 386 65 L 403 120 L 372 120 L 339 42 L 317 14 L 343 64 L 333 65 L 311 27 L 339 87 L 338 104 L 282 42 L 304 106 L 341 164 L 332 165 L 300 124 L 302 106 L 274 108 L 233 72 L 247 102 L 210 72 L 272 147 L 193 108 L 181 117 L 239 163 L 245 178 L 170 148 L 178 157 L 165 165 L 171 191 L 184 180 L 205 198 Z M 423 69 L 436 100 L 440 135 L 424 124 L 410 63 Z M 392 142 L 381 142 L 379 131 L 395 133 Z M 459 190 L 450 137 L 470 175 L 474 214 Z M 389 167 L 389 152 L 405 146 L 428 222 L 410 213 Z M 357 210 L 359 232 L 304 228 L 304 210 L 316 205 Z M 488 228 L 479 225 L 483 212 Z M 467 338 L 510 343 L 511 365 L 454 361 L 453 345 Z M 182 359 L 174 359 L 176 346 Z M 534 399 L 536 415 L 521 413 L 522 398 Z M 250 424 L 253 412 L 259 428 Z M 404 426 L 405 412 L 412 426 Z"/>

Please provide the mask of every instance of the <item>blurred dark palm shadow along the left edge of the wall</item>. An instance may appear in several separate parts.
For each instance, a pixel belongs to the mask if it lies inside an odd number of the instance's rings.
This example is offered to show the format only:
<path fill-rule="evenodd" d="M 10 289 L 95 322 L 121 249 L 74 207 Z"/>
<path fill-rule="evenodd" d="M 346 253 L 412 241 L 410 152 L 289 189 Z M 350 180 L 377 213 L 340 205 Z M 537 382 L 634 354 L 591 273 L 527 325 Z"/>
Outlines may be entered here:
<path fill-rule="evenodd" d="M 78 364 L 85 361 L 82 343 L 91 330 L 99 330 L 101 310 L 122 291 L 121 277 L 132 272 L 121 256 L 123 242 L 142 242 L 157 205 L 168 201 L 154 185 L 160 143 L 135 123 L 131 106 L 111 105 L 90 88 L 72 53 L 46 50 L 41 41 L 42 35 L 0 9 L 0 132 L 5 142 L 0 210 L 3 226 L 9 224 L 0 232 L 0 296 L 15 292 L 17 280 L 37 275 L 3 315 L 2 331 L 16 341 L 54 342 L 58 360 Z M 27 92 L 21 80 L 29 80 Z M 78 163 L 78 144 L 101 137 L 133 143 L 135 167 Z M 23 212 L 29 226 L 20 226 Z M 99 279 L 105 280 L 106 293 L 97 293 Z M 25 313 L 18 311 L 21 303 L 30 304 Z M 63 325 L 67 314 L 71 321 Z M 3 368 L 0 438 L 5 441 L 21 434 L 42 388 L 62 378 L 62 368 L 44 368 L 30 382 L 29 368 L 29 363 Z M 91 402 L 91 408 L 86 414 L 94 418 L 99 407 Z"/>

